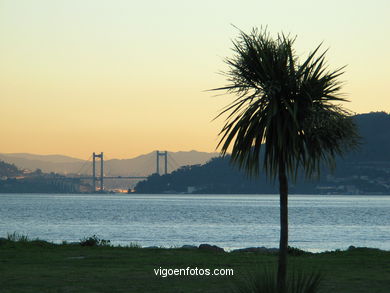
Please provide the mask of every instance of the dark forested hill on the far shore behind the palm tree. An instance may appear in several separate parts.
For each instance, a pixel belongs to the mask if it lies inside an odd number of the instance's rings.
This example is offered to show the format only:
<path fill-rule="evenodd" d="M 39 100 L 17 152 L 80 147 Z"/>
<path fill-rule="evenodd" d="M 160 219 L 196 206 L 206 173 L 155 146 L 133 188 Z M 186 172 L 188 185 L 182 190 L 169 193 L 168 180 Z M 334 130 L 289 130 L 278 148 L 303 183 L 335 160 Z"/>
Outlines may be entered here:
<path fill-rule="evenodd" d="M 390 115 L 384 112 L 354 117 L 362 137 L 358 151 L 337 159 L 334 172 L 322 171 L 320 180 L 298 176 L 290 182 L 291 193 L 390 194 Z M 277 184 L 264 173 L 248 179 L 232 167 L 228 158 L 216 158 L 164 176 L 152 175 L 136 186 L 138 193 L 277 193 Z"/>

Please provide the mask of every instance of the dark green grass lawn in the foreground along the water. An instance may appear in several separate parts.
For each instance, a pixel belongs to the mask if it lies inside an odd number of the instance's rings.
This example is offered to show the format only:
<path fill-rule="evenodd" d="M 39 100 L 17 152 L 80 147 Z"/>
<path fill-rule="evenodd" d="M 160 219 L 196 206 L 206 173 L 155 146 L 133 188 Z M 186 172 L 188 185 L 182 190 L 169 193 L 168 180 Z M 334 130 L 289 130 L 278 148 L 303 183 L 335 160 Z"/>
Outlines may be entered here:
<path fill-rule="evenodd" d="M 16 237 L 15 240 L 20 240 Z M 26 239 L 23 239 L 26 240 Z M 231 292 L 277 256 L 185 249 L 55 245 L 0 240 L 0 292 Z M 390 292 L 390 252 L 357 248 L 289 257 L 290 268 L 324 274 L 322 291 Z M 157 277 L 158 268 L 233 268 L 234 277 Z"/>

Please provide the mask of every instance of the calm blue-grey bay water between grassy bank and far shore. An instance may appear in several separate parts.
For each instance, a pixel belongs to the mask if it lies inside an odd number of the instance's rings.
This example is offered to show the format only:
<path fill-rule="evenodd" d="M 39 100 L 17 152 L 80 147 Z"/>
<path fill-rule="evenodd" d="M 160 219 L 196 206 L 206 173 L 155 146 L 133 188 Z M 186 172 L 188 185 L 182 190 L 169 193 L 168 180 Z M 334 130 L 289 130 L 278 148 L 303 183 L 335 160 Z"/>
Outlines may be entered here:
<path fill-rule="evenodd" d="M 390 250 L 390 196 L 289 197 L 290 246 Z M 97 235 L 114 245 L 226 249 L 277 247 L 277 195 L 1 194 L 0 237 L 17 232 L 52 242 Z"/>

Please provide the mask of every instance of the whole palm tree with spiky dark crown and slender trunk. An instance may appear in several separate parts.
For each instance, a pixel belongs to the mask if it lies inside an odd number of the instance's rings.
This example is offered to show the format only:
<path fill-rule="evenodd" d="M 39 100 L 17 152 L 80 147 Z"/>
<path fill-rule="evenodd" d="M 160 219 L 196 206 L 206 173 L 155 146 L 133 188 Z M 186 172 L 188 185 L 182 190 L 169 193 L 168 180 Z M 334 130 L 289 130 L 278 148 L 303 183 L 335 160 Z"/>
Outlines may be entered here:
<path fill-rule="evenodd" d="M 349 111 L 335 104 L 343 68 L 329 71 L 319 45 L 300 62 L 295 38 L 265 29 L 240 31 L 233 41 L 234 56 L 225 59 L 229 84 L 213 90 L 236 95 L 217 116 L 227 115 L 218 147 L 222 155 L 251 176 L 261 167 L 271 180 L 278 178 L 280 243 L 277 284 L 286 292 L 288 247 L 288 180 L 303 171 L 319 175 L 323 164 L 333 167 L 335 156 L 358 144 Z"/>

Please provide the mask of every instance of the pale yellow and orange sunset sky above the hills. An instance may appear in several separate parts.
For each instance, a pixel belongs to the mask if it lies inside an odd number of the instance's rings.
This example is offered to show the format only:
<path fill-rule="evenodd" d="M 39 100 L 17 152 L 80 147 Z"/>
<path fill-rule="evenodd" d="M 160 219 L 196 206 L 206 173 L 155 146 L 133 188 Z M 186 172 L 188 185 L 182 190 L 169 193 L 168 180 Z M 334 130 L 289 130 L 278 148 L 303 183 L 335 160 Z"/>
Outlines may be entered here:
<path fill-rule="evenodd" d="M 215 151 L 231 41 L 268 26 L 347 65 L 346 106 L 390 112 L 390 1 L 0 0 L 0 153 Z"/>

